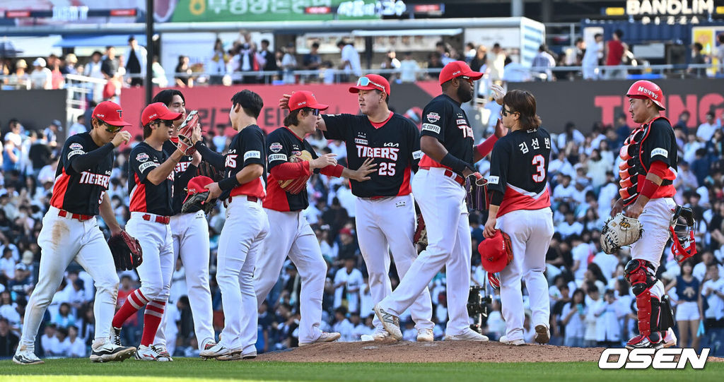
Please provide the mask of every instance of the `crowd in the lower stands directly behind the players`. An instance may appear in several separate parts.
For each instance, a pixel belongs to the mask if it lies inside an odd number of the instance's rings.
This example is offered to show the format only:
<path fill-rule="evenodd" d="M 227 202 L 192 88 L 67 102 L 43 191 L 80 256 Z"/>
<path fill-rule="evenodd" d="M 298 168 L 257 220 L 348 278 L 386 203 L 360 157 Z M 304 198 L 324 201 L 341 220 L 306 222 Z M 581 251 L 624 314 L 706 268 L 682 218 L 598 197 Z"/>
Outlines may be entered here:
<path fill-rule="evenodd" d="M 694 210 L 698 253 L 679 266 L 670 250 L 662 254 L 659 276 L 675 301 L 679 346 L 711 347 L 721 355 L 724 347 L 724 132 L 715 114 L 699 127 L 688 126 L 688 113 L 675 122 L 679 158 L 675 200 Z M 545 125 L 544 125 L 545 126 Z M 634 297 L 623 279 L 629 260 L 626 248 L 618 256 L 606 255 L 599 246 L 599 230 L 618 198 L 618 149 L 631 127 L 621 115 L 615 126 L 594 123 L 589 134 L 574 124 L 554 137 L 550 161 L 549 190 L 554 211 L 555 236 L 547 253 L 547 279 L 551 297 L 552 344 L 572 347 L 621 347 L 636 330 Z M 41 255 L 37 242 L 43 214 L 49 206 L 61 135 L 83 132 L 83 123 L 64 129 L 54 122 L 44 131 L 27 131 L 12 120 L 3 126 L 0 177 L 0 357 L 14 352 L 20 336 L 22 317 L 36 283 Z M 209 132 L 209 147 L 223 153 L 230 137 Z M 491 132 L 488 132 L 491 133 Z M 108 195 L 119 223 L 130 218 L 127 195 L 127 157 L 130 145 L 117 152 Z M 319 153 L 336 153 L 344 163 L 345 146 L 327 141 L 321 132 L 308 137 Z M 487 160 L 479 162 L 487 174 Z M 366 268 L 355 234 L 355 204 L 347 182 L 314 175 L 308 183 L 310 206 L 304 211 L 327 260 L 322 330 L 342 334 L 340 341 L 359 341 L 371 334 L 372 302 Z M 473 238 L 473 285 L 487 284 L 481 268 L 478 243 L 483 240 L 484 211 L 470 215 Z M 214 281 L 216 247 L 224 224 L 224 207 L 216 205 L 207 216 L 211 242 L 211 293 L 214 328 L 218 334 L 224 319 L 219 287 Z M 103 229 L 106 227 L 101 224 Z M 106 232 L 107 234 L 107 232 Z M 198 356 L 193 333 L 193 315 L 185 285 L 185 268 L 194 264 L 180 261 L 172 277 L 167 305 L 167 343 L 172 355 Z M 683 271 L 682 271 L 683 270 Z M 393 288 L 394 264 L 390 271 Z M 120 275 L 118 306 L 138 287 L 135 272 Z M 434 336 L 442 339 L 447 321 L 445 270 L 429 285 L 434 305 Z M 492 289 L 487 289 L 492 291 Z M 258 315 L 259 352 L 298 345 L 300 277 L 287 262 L 279 281 Z M 493 292 L 494 293 L 494 292 Z M 93 341 L 93 281 L 80 267 L 73 266 L 55 294 L 43 320 L 36 349 L 44 357 L 85 357 Z M 527 306 L 527 302 L 526 302 Z M 143 327 L 143 315 L 125 323 L 125 343 L 136 343 Z M 400 317 L 405 339 L 414 340 L 416 330 L 409 313 Z M 529 323 L 526 321 L 526 325 Z M 405 330 L 406 329 L 406 330 Z M 527 327 L 526 341 L 532 342 L 533 328 Z M 484 333 L 499 339 L 505 331 L 500 298 L 494 295 L 492 311 L 485 320 Z M 691 341 L 691 344 L 689 344 Z"/>

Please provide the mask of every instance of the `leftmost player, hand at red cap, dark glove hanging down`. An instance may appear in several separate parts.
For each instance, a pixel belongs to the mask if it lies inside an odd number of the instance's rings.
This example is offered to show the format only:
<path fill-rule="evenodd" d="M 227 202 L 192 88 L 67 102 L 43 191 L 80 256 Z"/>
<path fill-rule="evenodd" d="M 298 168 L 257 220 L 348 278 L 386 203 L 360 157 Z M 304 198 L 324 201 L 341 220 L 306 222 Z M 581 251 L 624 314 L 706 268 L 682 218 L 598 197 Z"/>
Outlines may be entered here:
<path fill-rule="evenodd" d="M 22 338 L 12 357 L 15 363 L 43 363 L 35 356 L 35 336 L 72 260 L 90 273 L 96 286 L 93 305 L 96 339 L 90 360 L 122 361 L 135 353 L 134 347 L 120 347 L 109 340 L 118 296 L 118 276 L 111 251 L 96 221 L 96 215 L 100 213 L 111 234 L 121 232 L 106 190 L 113 169 L 113 149 L 127 143 L 131 137 L 129 132 L 121 131 L 130 125 L 123 120 L 122 113 L 121 106 L 116 103 L 98 103 L 92 114 L 93 130 L 73 135 L 63 145 L 53 197 L 38 236 L 41 247 L 38 284 L 25 309 Z"/>

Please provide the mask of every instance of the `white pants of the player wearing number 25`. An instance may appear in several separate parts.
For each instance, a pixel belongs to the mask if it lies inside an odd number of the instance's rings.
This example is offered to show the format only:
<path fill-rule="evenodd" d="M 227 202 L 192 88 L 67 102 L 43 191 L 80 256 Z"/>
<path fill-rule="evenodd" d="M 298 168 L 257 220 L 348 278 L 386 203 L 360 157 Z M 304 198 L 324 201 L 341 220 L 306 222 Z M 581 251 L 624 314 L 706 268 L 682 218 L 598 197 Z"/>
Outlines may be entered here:
<path fill-rule="evenodd" d="M 357 239 L 369 273 L 369 289 L 373 306 L 392 293 L 390 284 L 390 251 L 395 258 L 397 276 L 405 277 L 417 258 L 413 243 L 416 213 L 412 195 L 394 198 L 355 198 Z M 362 312 L 366 315 L 369 312 Z M 425 287 L 413 302 L 410 313 L 418 329 L 434 327 L 432 300 Z M 372 321 L 382 329 L 377 316 Z"/>

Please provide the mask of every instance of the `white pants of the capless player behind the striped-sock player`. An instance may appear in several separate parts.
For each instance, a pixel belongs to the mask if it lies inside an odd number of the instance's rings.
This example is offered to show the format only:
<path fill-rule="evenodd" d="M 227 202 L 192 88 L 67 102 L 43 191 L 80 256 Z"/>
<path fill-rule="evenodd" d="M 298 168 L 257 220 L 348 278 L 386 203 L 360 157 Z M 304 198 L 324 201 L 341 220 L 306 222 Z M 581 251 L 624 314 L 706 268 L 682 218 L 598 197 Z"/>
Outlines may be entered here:
<path fill-rule="evenodd" d="M 193 330 L 198 348 L 203 350 L 204 342 L 216 341 L 209 289 L 209 224 L 203 211 L 196 211 L 171 216 L 169 225 L 174 242 L 174 266 L 178 258 L 181 258 L 186 273 L 188 302 L 193 314 Z M 166 346 L 168 321 L 168 315 L 164 313 L 164 320 L 156 332 L 153 344 Z"/>

